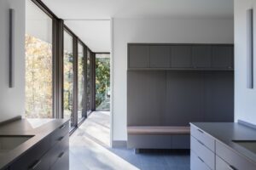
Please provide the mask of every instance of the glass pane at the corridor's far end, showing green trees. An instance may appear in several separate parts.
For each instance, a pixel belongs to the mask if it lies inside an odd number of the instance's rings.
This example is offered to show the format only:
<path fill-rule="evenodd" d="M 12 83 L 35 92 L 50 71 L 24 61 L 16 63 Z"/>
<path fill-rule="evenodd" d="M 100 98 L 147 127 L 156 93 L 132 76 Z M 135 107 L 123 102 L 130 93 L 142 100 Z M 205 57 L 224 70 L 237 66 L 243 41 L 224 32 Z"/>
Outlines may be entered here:
<path fill-rule="evenodd" d="M 96 111 L 110 111 L 110 58 L 96 54 Z"/>

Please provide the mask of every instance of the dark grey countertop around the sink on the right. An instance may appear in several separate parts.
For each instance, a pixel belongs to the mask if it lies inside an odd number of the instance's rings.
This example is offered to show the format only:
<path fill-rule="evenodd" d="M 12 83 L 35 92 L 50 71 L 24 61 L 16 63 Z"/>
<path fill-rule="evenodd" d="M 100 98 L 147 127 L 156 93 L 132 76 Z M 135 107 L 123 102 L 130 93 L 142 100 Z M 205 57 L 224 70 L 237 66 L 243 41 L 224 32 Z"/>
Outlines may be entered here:
<path fill-rule="evenodd" d="M 234 150 L 237 154 L 245 156 L 250 161 L 256 163 L 256 154 L 251 150 L 247 150 L 232 140 L 255 140 L 256 129 L 247 127 L 237 122 L 192 122 L 190 125 L 201 128 L 218 142 L 227 145 L 230 150 Z"/>

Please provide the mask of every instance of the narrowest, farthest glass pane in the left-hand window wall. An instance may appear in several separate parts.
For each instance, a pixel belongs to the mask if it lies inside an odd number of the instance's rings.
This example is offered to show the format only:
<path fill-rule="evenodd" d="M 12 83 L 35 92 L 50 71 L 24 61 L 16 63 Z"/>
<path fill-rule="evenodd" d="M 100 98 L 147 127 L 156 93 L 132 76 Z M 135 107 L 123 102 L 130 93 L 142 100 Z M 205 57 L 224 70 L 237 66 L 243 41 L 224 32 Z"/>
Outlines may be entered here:
<path fill-rule="evenodd" d="M 91 63 L 90 63 L 90 51 L 87 50 L 87 95 L 86 95 L 86 111 L 87 114 L 91 111 Z"/>

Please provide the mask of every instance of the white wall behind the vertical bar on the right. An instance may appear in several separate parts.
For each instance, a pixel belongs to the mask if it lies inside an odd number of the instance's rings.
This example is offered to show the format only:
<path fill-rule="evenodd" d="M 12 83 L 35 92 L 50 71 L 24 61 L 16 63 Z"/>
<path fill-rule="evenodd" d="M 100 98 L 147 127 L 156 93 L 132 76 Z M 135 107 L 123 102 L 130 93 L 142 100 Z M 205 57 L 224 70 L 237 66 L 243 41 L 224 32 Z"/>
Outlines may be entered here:
<path fill-rule="evenodd" d="M 254 2 L 254 4 L 253 4 Z M 256 124 L 256 70 L 254 88 L 247 88 L 247 9 L 256 10 L 255 0 L 235 0 L 235 121 L 238 119 Z M 255 11 L 254 11 L 255 12 Z M 254 16 L 255 13 L 254 13 Z M 255 20 L 256 21 L 256 20 Z M 254 21 L 254 23 L 255 23 Z M 256 31 L 256 24 L 254 25 Z M 254 34 L 255 35 L 255 34 Z M 256 35 L 255 35 L 256 36 Z M 256 37 L 254 37 L 256 40 Z M 256 54 L 256 44 L 254 44 Z M 254 67 L 256 60 L 254 59 Z"/>

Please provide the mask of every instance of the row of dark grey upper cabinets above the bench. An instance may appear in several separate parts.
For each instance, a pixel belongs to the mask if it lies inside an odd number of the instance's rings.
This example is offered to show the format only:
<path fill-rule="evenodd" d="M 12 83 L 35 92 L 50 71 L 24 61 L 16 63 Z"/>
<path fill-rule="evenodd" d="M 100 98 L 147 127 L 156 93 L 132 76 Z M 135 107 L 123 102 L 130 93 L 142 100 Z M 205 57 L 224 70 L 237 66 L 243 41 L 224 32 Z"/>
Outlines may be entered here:
<path fill-rule="evenodd" d="M 128 44 L 129 70 L 232 71 L 232 44 Z"/>

